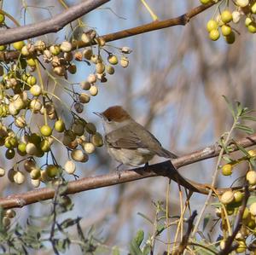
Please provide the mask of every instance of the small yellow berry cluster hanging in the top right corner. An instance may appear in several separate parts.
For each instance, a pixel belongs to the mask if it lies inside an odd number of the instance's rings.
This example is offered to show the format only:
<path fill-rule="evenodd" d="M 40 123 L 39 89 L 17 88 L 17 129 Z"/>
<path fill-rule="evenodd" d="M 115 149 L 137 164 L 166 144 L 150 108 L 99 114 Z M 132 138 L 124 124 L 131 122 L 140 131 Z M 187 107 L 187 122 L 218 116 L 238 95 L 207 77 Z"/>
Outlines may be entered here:
<path fill-rule="evenodd" d="M 244 18 L 247 31 L 251 33 L 256 32 L 256 23 L 254 14 L 256 14 L 255 0 L 236 0 L 234 1 L 234 9 L 228 9 L 227 6 L 220 10 L 220 6 L 224 1 L 201 0 L 201 3 L 207 4 L 212 2 L 219 3 L 219 14 L 212 20 L 207 22 L 207 32 L 212 41 L 218 40 L 222 34 L 227 43 L 234 43 L 236 40 L 236 29 L 234 25 L 239 23 Z M 225 1 L 226 2 L 226 1 Z"/>

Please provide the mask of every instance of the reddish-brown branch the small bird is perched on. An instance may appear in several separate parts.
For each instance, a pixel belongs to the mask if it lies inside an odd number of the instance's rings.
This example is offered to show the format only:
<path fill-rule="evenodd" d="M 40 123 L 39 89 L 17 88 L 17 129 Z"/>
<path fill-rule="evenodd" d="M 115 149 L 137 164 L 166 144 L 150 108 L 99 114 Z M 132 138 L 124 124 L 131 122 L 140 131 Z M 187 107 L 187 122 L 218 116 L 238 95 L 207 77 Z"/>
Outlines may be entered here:
<path fill-rule="evenodd" d="M 243 148 L 247 148 L 256 144 L 256 134 L 253 136 L 244 137 L 236 142 Z M 235 144 L 231 145 L 233 151 L 237 151 L 238 148 Z M 195 151 L 194 153 L 184 155 L 178 159 L 171 161 L 167 160 L 154 165 L 148 165 L 147 169 L 139 167 L 133 170 L 121 171 L 120 175 L 116 172 L 97 176 L 97 177 L 84 177 L 79 180 L 69 182 L 67 184 L 67 191 L 65 194 L 75 194 L 85 190 L 94 188 L 103 188 L 120 183 L 127 183 L 136 180 L 140 180 L 148 177 L 169 177 L 184 188 L 188 188 L 192 192 L 201 194 L 208 194 L 209 185 L 192 182 L 188 179 L 183 178 L 176 169 L 183 165 L 190 165 L 195 162 L 210 159 L 218 156 L 220 147 L 218 145 L 212 145 L 207 148 Z M 172 165 L 173 164 L 173 165 Z M 235 187 L 233 189 L 242 188 Z M 218 194 L 224 193 L 224 191 L 230 190 L 230 188 L 216 188 Z M 38 188 L 32 191 L 28 191 L 23 194 L 11 194 L 5 198 L 0 199 L 0 206 L 3 208 L 22 207 L 36 203 L 41 200 L 52 199 L 55 195 L 54 188 Z"/>

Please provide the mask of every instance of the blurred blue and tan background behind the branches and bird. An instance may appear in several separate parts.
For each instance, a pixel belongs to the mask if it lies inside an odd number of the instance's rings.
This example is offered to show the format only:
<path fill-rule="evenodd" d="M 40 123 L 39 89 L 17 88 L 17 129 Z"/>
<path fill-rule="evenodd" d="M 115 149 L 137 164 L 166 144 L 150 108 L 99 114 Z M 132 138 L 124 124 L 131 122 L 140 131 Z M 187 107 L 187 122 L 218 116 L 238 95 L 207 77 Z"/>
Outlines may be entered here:
<path fill-rule="evenodd" d="M 24 22 L 24 4 L 28 10 L 25 14 L 26 24 L 63 11 L 61 1 L 56 0 L 2 2 L 3 9 L 20 20 L 21 24 Z M 69 6 L 79 2 L 65 1 Z M 200 4 L 196 0 L 147 0 L 147 3 L 159 20 L 177 17 Z M 244 106 L 255 107 L 256 38 L 247 32 L 241 21 L 236 26 L 241 35 L 236 34 L 234 44 L 228 45 L 223 38 L 217 42 L 210 41 L 206 24 L 215 9 L 213 6 L 198 14 L 187 26 L 173 26 L 108 43 L 111 47 L 130 47 L 130 65 L 125 69 L 117 67 L 106 84 L 99 84 L 99 94 L 91 98 L 81 116 L 96 123 L 97 129 L 102 132 L 100 119 L 92 112 L 122 105 L 134 119 L 151 130 L 165 148 L 177 155 L 189 154 L 218 142 L 218 138 L 232 125 L 232 117 L 223 95 L 230 101 L 241 101 Z M 152 18 L 139 0 L 112 0 L 102 8 L 85 15 L 83 21 L 86 26 L 95 28 L 99 35 L 104 35 L 146 24 Z M 76 25 L 76 21 L 73 22 L 73 26 Z M 61 43 L 70 33 L 68 29 L 41 38 L 48 43 Z M 69 80 L 74 83 L 85 80 L 93 71 L 84 62 L 77 62 L 77 67 L 78 72 L 69 75 Z M 44 80 L 47 80 L 46 76 Z M 62 96 L 66 100 L 65 95 Z M 241 134 L 237 132 L 234 136 L 238 138 Z M 63 162 L 67 159 L 67 155 L 58 147 L 55 148 L 55 157 Z M 1 167 L 6 169 L 14 164 L 6 161 L 3 156 L 0 160 Z M 163 159 L 154 159 L 151 163 L 160 160 Z M 215 163 L 215 159 L 207 159 L 183 167 L 179 172 L 199 183 L 210 183 Z M 108 156 L 106 148 L 97 148 L 89 162 L 77 164 L 77 175 L 87 177 L 106 174 L 114 171 L 116 165 Z M 232 177 L 219 178 L 218 186 L 230 185 L 245 170 L 240 169 Z M 147 235 L 154 229 L 138 212 L 154 220 L 154 202 L 166 200 L 167 185 L 166 178 L 154 177 L 75 194 L 71 196 L 73 211 L 68 213 L 70 217 L 83 217 L 81 226 L 85 232 L 94 226 L 96 236 L 106 248 L 102 254 L 110 254 L 113 246 L 119 246 L 123 254 L 127 254 L 127 246 L 137 229 L 143 229 Z M 1 179 L 1 196 L 31 189 L 29 183 L 18 186 L 9 183 L 7 179 Z M 199 211 L 205 199 L 203 195 L 194 194 L 190 200 L 191 209 Z M 169 204 L 170 214 L 179 215 L 180 200 L 176 183 L 171 183 Z M 17 221 L 26 223 L 30 214 L 39 216 L 48 211 L 45 203 L 26 206 L 16 210 Z M 214 211 L 209 208 L 208 212 Z M 218 235 L 218 229 L 212 235 Z M 161 240 L 165 240 L 165 234 L 161 236 Z M 156 246 L 157 252 L 165 249 L 166 246 L 160 242 Z M 76 246 L 72 246 L 70 252 L 79 254 Z M 40 251 L 34 254 L 51 252 Z"/>

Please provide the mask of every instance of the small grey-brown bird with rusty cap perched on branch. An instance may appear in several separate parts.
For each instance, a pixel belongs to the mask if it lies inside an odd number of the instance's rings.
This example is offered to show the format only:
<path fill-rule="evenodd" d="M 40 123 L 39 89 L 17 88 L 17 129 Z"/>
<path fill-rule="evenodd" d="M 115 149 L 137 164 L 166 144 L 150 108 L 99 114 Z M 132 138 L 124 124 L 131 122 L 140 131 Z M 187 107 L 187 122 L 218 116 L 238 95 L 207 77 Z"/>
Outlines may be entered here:
<path fill-rule="evenodd" d="M 163 148 L 157 138 L 132 119 L 123 107 L 108 107 L 102 113 L 94 113 L 102 119 L 108 153 L 120 163 L 117 170 L 121 165 L 147 166 L 155 155 L 177 159 L 176 154 Z"/>

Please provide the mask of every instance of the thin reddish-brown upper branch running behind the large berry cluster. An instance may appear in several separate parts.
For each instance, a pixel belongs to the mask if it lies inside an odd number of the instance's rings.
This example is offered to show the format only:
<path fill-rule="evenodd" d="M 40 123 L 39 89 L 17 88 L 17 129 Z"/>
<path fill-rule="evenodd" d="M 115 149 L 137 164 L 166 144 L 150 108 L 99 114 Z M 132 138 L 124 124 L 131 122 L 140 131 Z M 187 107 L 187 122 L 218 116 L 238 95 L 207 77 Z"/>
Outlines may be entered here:
<path fill-rule="evenodd" d="M 106 1 L 105 1 L 106 2 Z M 166 27 L 170 27 L 170 26 L 178 26 L 178 25 L 186 25 L 189 20 L 193 17 L 195 17 L 197 14 L 200 14 L 201 12 L 203 12 L 204 10 L 210 8 L 213 4 L 215 3 L 209 3 L 209 4 L 202 4 L 198 7 L 195 7 L 194 9 L 189 10 L 189 12 L 187 12 L 186 14 L 183 14 L 181 16 L 178 16 L 177 18 L 174 19 L 169 19 L 169 20 L 156 20 L 154 22 L 150 22 L 148 24 L 142 25 L 142 26 L 136 26 L 136 27 L 132 27 L 130 29 L 125 29 L 119 32 L 113 32 L 113 33 L 109 33 L 106 35 L 101 36 L 101 38 L 103 38 L 106 42 L 112 42 L 112 41 L 116 41 L 122 38 L 128 38 L 128 37 L 133 37 L 136 36 L 138 34 L 144 33 L 144 32 L 151 32 L 154 30 L 158 30 L 158 29 L 163 29 Z M 37 27 L 40 23 L 36 23 L 33 26 Z M 23 27 L 23 26 L 22 26 Z M 20 28 L 13 28 L 13 29 L 20 29 Z M 10 31 L 11 29 L 9 29 L 8 31 Z M 37 28 L 38 30 L 38 28 Z M 38 32 L 40 32 L 38 30 Z M 42 35 L 44 33 L 39 33 L 38 35 Z M 20 35 L 20 32 L 18 33 L 18 35 Z M 17 35 L 17 36 L 18 36 Z M 33 35 L 35 36 L 35 35 Z M 13 43 L 15 41 L 19 41 L 21 40 L 21 38 L 17 38 L 15 40 L 10 40 L 9 38 L 9 33 L 5 36 L 5 43 Z M 30 37 L 26 37 L 26 38 L 31 38 Z M 24 37 L 22 38 L 24 39 Z M 3 38 L 0 37 L 0 45 L 4 44 L 3 43 Z M 92 43 L 92 44 L 96 44 L 96 43 Z M 84 43 L 83 41 L 77 41 L 77 42 L 73 42 L 73 49 L 80 49 L 80 48 L 84 48 L 86 46 L 89 46 L 89 43 Z M 10 60 L 14 60 L 17 59 L 20 55 L 20 51 L 16 51 L 16 50 L 12 50 L 9 52 L 0 52 L 0 61 L 10 61 Z"/>

